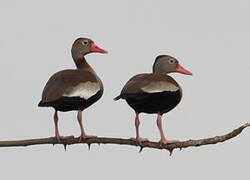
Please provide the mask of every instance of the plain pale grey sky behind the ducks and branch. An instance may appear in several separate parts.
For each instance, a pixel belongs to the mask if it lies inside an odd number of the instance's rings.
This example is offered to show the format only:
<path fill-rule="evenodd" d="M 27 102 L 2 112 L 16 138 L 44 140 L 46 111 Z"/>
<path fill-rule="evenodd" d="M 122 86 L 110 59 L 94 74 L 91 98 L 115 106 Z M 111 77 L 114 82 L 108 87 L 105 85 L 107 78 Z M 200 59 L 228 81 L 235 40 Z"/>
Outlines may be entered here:
<path fill-rule="evenodd" d="M 75 68 L 71 45 L 90 37 L 109 54 L 86 58 L 105 92 L 83 113 L 88 134 L 129 138 L 134 112 L 114 102 L 127 80 L 169 54 L 194 76 L 172 74 L 182 102 L 164 116 L 169 139 L 225 134 L 249 119 L 250 1 L 0 2 L 0 139 L 54 135 L 53 109 L 38 108 L 48 78 Z M 62 135 L 79 136 L 76 112 L 59 113 Z M 142 114 L 141 136 L 158 141 L 156 115 Z M 3 179 L 247 179 L 250 132 L 227 142 L 169 152 L 118 145 L 0 148 Z"/>

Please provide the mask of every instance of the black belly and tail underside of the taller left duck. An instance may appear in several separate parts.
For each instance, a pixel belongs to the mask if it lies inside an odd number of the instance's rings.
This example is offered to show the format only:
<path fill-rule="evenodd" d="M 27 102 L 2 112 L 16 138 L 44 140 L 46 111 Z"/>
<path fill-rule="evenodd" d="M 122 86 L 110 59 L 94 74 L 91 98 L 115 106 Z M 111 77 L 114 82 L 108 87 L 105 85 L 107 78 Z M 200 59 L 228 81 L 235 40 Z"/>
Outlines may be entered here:
<path fill-rule="evenodd" d="M 100 90 L 94 96 L 91 96 L 87 100 L 80 97 L 61 97 L 56 101 L 45 102 L 40 101 L 38 106 L 41 107 L 54 107 L 57 111 L 74 111 L 83 110 L 91 106 L 93 103 L 98 101 L 103 92 Z"/>

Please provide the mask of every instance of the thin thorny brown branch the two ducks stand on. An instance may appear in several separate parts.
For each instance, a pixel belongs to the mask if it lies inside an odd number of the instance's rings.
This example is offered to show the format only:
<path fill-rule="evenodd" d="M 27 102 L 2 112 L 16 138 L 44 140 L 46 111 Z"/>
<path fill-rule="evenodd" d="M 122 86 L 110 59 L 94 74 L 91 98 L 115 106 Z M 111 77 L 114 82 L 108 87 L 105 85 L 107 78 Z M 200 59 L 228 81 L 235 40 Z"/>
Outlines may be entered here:
<path fill-rule="evenodd" d="M 27 139 L 27 140 L 16 140 L 16 141 L 0 141 L 0 147 L 12 147 L 12 146 L 31 146 L 31 145 L 41 145 L 41 144 L 63 144 L 64 148 L 66 150 L 67 145 L 72 144 L 78 144 L 78 143 L 84 143 L 88 144 L 89 148 L 91 144 L 97 143 L 97 144 L 120 144 L 120 145 L 131 145 L 131 146 L 140 146 L 140 152 L 143 148 L 155 148 L 155 149 L 166 149 L 170 152 L 170 155 L 172 154 L 173 150 L 176 148 L 187 148 L 187 147 L 198 147 L 208 144 L 216 144 L 219 142 L 224 142 L 226 140 L 229 140 L 231 138 L 236 137 L 239 135 L 243 129 L 250 126 L 250 122 L 246 123 L 239 128 L 233 130 L 232 132 L 222 135 L 222 136 L 215 136 L 212 138 L 205 138 L 205 139 L 198 139 L 198 140 L 187 140 L 182 141 L 178 143 L 173 144 L 166 144 L 161 145 L 158 142 L 142 142 L 140 145 L 137 144 L 135 141 L 131 139 L 121 139 L 121 138 L 107 138 L 107 137 L 98 137 L 98 138 L 91 138 L 91 139 L 85 139 L 79 142 L 78 138 L 67 139 L 62 140 L 58 142 L 55 137 L 49 137 L 49 138 L 41 138 L 41 139 Z"/>

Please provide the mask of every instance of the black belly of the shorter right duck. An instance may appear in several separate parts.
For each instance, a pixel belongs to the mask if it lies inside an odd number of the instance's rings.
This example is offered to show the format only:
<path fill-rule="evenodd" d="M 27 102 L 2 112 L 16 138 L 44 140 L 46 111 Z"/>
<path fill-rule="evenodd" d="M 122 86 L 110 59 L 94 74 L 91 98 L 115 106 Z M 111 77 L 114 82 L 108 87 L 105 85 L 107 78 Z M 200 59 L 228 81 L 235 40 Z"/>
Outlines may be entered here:
<path fill-rule="evenodd" d="M 164 114 L 179 104 L 181 96 L 181 91 L 178 90 L 175 92 L 123 94 L 122 98 L 137 113 Z"/>

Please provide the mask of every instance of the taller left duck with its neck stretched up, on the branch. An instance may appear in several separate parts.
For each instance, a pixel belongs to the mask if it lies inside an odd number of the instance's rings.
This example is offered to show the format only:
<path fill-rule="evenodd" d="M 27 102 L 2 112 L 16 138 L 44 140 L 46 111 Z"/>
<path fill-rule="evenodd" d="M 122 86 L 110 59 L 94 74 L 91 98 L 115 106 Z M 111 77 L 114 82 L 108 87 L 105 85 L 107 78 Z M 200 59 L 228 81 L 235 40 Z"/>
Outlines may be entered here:
<path fill-rule="evenodd" d="M 103 94 L 100 78 L 84 58 L 85 55 L 94 52 L 107 53 L 91 39 L 78 38 L 75 40 L 71 53 L 77 69 L 67 69 L 55 73 L 43 89 L 42 100 L 38 106 L 55 109 L 55 136 L 58 141 L 72 136 L 60 136 L 57 111 L 78 111 L 77 119 L 81 128 L 79 141 L 96 137 L 86 135 L 82 125 L 82 111 L 100 99 Z"/>

